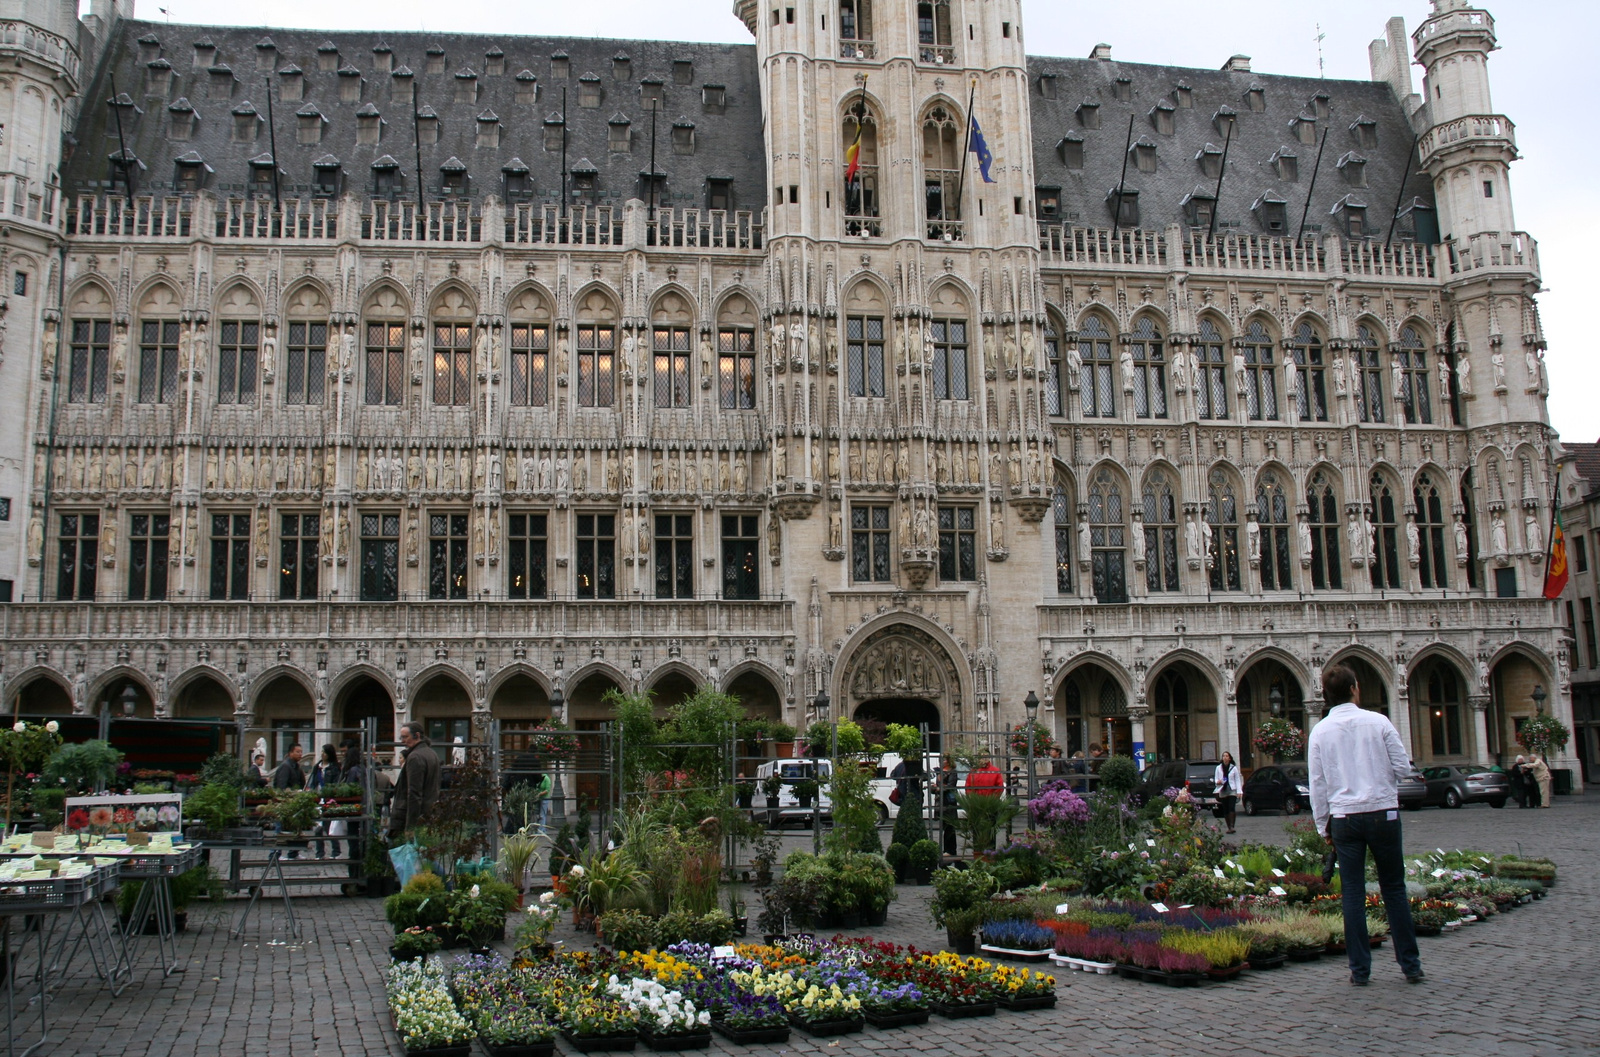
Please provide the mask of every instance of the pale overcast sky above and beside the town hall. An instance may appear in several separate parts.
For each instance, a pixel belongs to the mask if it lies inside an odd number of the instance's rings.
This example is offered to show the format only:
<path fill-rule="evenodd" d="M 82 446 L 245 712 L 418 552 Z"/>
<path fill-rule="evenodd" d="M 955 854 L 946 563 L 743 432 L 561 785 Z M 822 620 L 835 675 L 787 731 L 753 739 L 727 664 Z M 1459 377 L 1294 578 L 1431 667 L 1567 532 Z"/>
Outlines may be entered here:
<path fill-rule="evenodd" d="M 880 3 L 890 0 L 880 0 Z M 909 0 L 907 0 L 909 2 Z M 138 16 L 210 26 L 270 24 L 318 29 L 394 29 L 706 40 L 750 43 L 731 0 L 582 0 L 504 3 L 453 0 L 138 0 Z M 1030 54 L 1086 56 L 1099 42 L 1130 62 L 1216 69 L 1242 53 L 1266 74 L 1317 74 L 1318 22 L 1328 77 L 1366 78 L 1366 45 L 1389 16 L 1413 30 L 1432 10 L 1427 0 L 1142 0 L 1141 3 L 1024 2 Z M 1490 61 L 1494 107 L 1517 125 L 1525 160 L 1512 166 L 1517 227 L 1539 243 L 1539 297 L 1550 350 L 1550 421 L 1566 440 L 1600 438 L 1600 361 L 1582 352 L 1582 312 L 1594 312 L 1600 267 L 1582 246 L 1600 248 L 1600 138 L 1578 134 L 1579 107 L 1594 85 L 1594 0 L 1501 0 L 1490 3 L 1502 51 Z M 1416 88 L 1422 74 L 1413 67 Z M 1582 122 L 1587 123 L 1587 122 Z M 1589 176 L 1584 176 L 1584 174 Z M 1590 288 L 1586 296 L 1582 291 Z M 1586 395 L 1587 393 L 1587 395 Z"/>

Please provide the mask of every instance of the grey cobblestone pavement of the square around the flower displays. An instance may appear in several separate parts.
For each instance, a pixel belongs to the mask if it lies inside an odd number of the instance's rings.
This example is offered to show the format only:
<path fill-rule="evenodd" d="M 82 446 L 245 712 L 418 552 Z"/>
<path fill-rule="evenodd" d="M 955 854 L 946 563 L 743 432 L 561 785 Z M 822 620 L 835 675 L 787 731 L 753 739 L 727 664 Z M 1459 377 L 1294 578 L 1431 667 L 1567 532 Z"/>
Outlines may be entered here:
<path fill-rule="evenodd" d="M 1595 947 L 1581 926 L 1600 915 L 1600 796 L 1558 798 L 1547 811 L 1472 806 L 1408 812 L 1408 851 L 1477 848 L 1547 854 L 1562 867 L 1550 899 L 1454 935 L 1422 940 L 1424 987 L 1405 987 L 1389 948 L 1374 958 L 1373 983 L 1347 985 L 1342 961 L 1246 972 L 1230 983 L 1171 990 L 1118 977 L 1061 974 L 1054 1011 L 840 1039 L 800 1033 L 786 1046 L 746 1051 L 720 1036 L 725 1054 L 877 1054 L 915 1049 L 926 1057 L 1048 1057 L 1053 1054 L 1165 1054 L 1296 1057 L 1418 1054 L 1451 1057 L 1594 1054 L 1600 1014 L 1584 998 L 1595 977 Z M 1242 838 L 1277 841 L 1283 819 L 1240 819 Z M 794 843 L 800 843 L 798 838 Z M 805 841 L 810 843 L 808 838 Z M 331 889 L 330 889 L 331 891 Z M 926 918 L 931 889 L 902 887 L 890 926 L 877 934 L 934 945 Z M 381 903 L 306 895 L 294 900 L 302 939 L 286 935 L 282 905 L 264 903 L 245 937 L 229 939 L 238 900 L 192 908 L 179 939 L 186 972 L 162 979 L 154 948 L 120 998 L 85 975 L 70 977 L 53 1003 L 56 1031 L 38 1052 L 128 1057 L 394 1054 L 382 995 L 389 931 Z M 562 927 L 558 937 L 573 939 Z M 565 1049 L 565 1044 L 562 1044 Z M 640 1049 L 638 1052 L 645 1052 Z"/>

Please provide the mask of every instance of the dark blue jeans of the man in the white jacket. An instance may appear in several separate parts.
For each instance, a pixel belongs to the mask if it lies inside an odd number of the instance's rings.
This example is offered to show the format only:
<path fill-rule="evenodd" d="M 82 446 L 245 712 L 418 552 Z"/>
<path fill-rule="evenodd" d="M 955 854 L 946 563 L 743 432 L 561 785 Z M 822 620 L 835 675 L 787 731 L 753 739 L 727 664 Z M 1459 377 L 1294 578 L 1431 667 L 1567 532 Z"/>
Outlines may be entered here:
<path fill-rule="evenodd" d="M 1394 817 L 1389 817 L 1394 816 Z M 1405 852 L 1400 843 L 1400 812 L 1366 811 L 1333 820 L 1333 848 L 1339 856 L 1339 886 L 1344 892 L 1344 945 L 1350 975 L 1365 980 L 1373 972 L 1373 951 L 1366 934 L 1366 852 L 1378 864 L 1378 887 L 1389 915 L 1389 939 L 1395 961 L 1406 975 L 1422 971 L 1416 951 L 1411 900 L 1405 894 Z"/>

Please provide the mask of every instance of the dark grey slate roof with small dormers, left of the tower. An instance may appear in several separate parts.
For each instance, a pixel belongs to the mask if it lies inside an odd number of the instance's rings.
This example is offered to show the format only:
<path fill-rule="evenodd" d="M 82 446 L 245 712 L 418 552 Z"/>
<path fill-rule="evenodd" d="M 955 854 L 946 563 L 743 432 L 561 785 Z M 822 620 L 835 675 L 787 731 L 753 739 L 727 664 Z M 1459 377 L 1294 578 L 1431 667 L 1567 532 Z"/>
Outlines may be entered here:
<path fill-rule="evenodd" d="M 142 38 L 142 43 L 141 43 Z M 158 42 L 152 45 L 150 42 Z M 195 62 L 195 45 L 210 42 L 216 54 L 205 66 Z M 158 46 L 158 54 L 157 54 Z M 264 83 L 274 80 L 278 91 L 285 69 L 301 70 L 304 96 L 285 101 L 274 98 L 277 154 L 285 195 L 309 193 L 312 163 L 326 155 L 339 160 L 344 187 L 357 193 L 373 187 L 371 165 L 384 155 L 400 163 L 403 197 L 414 197 L 416 147 L 411 128 L 411 104 L 390 96 L 390 70 L 378 69 L 378 53 L 387 50 L 395 70 L 414 72 L 419 107 L 432 107 L 438 115 L 438 142 L 422 146 L 424 190 L 434 193 L 442 184 L 440 166 L 459 158 L 470 176 L 470 197 L 496 193 L 504 197 L 502 166 L 526 168 L 534 201 L 560 197 L 560 150 L 544 149 L 547 115 L 562 110 L 562 86 L 566 88 L 568 168 L 579 158 L 592 160 L 597 171 L 597 198 L 621 205 L 638 195 L 640 173 L 650 170 L 650 109 L 640 98 L 642 82 L 659 82 L 664 107 L 656 117 L 656 171 L 664 173 L 664 206 L 704 206 L 706 177 L 733 179 L 733 201 L 739 209 L 762 209 L 766 195 L 766 165 L 762 138 L 762 107 L 754 45 L 680 43 L 658 40 L 584 40 L 549 37 L 510 37 L 493 34 L 389 34 L 291 29 L 227 29 L 178 26 L 165 22 L 123 21 L 117 40 L 106 48 L 107 61 L 96 72 L 86 91 L 83 114 L 75 131 L 77 142 L 64 165 L 69 193 L 104 187 L 110 176 L 109 155 L 118 150 L 110 82 L 115 75 L 118 94 L 138 106 L 122 106 L 122 131 L 130 152 L 144 166 L 134 176 L 138 190 L 173 189 L 179 155 L 195 152 L 214 170 L 206 189 L 218 193 L 242 193 L 250 182 L 250 160 L 269 150 L 266 128 L 267 99 Z M 325 58 L 334 69 L 323 69 Z M 443 64 L 430 54 L 443 53 Z M 566 54 L 568 78 L 554 75 L 552 56 Z M 618 80 L 613 59 L 626 56 L 627 80 Z M 499 59 L 502 72 L 490 74 L 490 61 Z M 165 96 L 149 93 L 150 62 L 171 64 L 171 85 Z M 691 64 L 690 83 L 677 83 L 674 62 Z M 270 62 L 270 70 L 264 67 Z M 624 66 L 624 64 L 618 64 Z M 232 74 L 226 75 L 224 69 Z M 517 102 L 518 75 L 526 83 L 530 72 L 539 86 L 538 101 Z M 339 85 L 360 75 L 358 102 L 341 102 Z M 475 77 L 469 77 L 475 75 Z M 582 107 L 578 101 L 579 78 L 598 78 L 602 101 Z M 458 83 L 477 82 L 477 99 L 458 102 Z M 232 91 L 219 98 L 214 82 L 230 83 Z M 590 82 L 595 83 L 595 82 Z M 726 106 L 707 112 L 702 86 L 722 85 Z M 184 141 L 170 138 L 168 107 L 186 99 L 194 107 L 197 128 Z M 235 117 L 248 114 L 250 104 L 259 118 L 253 142 L 234 139 Z M 299 114 L 320 112 L 325 118 L 322 141 L 299 142 Z M 357 144 L 357 110 L 376 109 L 382 118 L 382 138 L 376 144 Z M 610 150 L 610 122 L 626 115 L 632 130 L 632 150 Z M 478 147 L 480 117 L 499 122 L 499 146 Z M 675 122 L 693 123 L 694 154 L 674 154 Z M 522 163 L 514 162 L 520 158 Z"/>

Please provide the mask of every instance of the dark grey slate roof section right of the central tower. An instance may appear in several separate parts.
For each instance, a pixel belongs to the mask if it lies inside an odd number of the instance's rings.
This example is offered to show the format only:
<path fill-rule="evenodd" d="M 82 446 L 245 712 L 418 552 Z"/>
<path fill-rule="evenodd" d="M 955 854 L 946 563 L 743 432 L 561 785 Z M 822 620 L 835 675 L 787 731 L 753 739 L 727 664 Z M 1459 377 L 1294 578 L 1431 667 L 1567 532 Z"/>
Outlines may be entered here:
<path fill-rule="evenodd" d="M 1237 224 L 1242 232 L 1261 232 L 1251 206 L 1275 192 L 1286 203 L 1288 233 L 1299 227 L 1301 209 L 1310 189 L 1317 144 L 1299 142 L 1290 123 L 1314 115 L 1312 98 L 1328 96 L 1328 120 L 1317 122 L 1320 142 L 1323 126 L 1331 126 L 1317 177 L 1315 198 L 1306 217 L 1307 230 L 1328 225 L 1330 211 L 1346 195 L 1365 201 L 1366 229 L 1384 237 L 1400 192 L 1406 154 L 1413 149 L 1411 126 L 1382 82 L 1322 80 L 1314 77 L 1282 77 L 1250 70 L 1197 70 L 1171 66 L 1146 66 L 1106 59 L 1058 59 L 1029 56 L 1030 106 L 1034 114 L 1034 173 L 1042 187 L 1061 189 L 1061 214 L 1069 224 L 1110 227 L 1112 206 L 1106 195 L 1122 176 L 1128 117 L 1133 117 L 1133 139 L 1155 144 L 1155 171 L 1141 173 L 1130 160 L 1126 190 L 1139 192 L 1139 227 L 1162 229 L 1186 224 L 1182 201 L 1190 193 L 1211 195 L 1216 176 L 1202 171 L 1200 155 L 1208 144 L 1216 150 L 1226 134 L 1214 118 L 1229 107 L 1235 112 L 1234 139 L 1227 146 L 1227 171 L 1218 208 L 1218 230 Z M 1040 77 L 1054 75 L 1054 99 L 1043 96 Z M 1117 99 L 1117 82 L 1126 78 L 1126 101 Z M 1178 86 L 1187 85 L 1194 106 L 1176 106 Z M 1262 90 L 1264 112 L 1253 112 L 1246 99 L 1251 88 Z M 1083 102 L 1099 104 L 1099 128 L 1085 128 L 1078 115 Z M 1163 106 L 1165 104 L 1165 106 Z M 1173 133 L 1160 133 L 1152 112 L 1170 109 Z M 1357 141 L 1350 125 L 1358 118 L 1373 122 L 1376 146 Z M 982 115 L 979 114 L 979 122 Z M 1056 152 L 1062 138 L 1082 138 L 1083 168 L 1069 170 Z M 1299 179 L 1285 181 L 1272 166 L 1277 150 L 1293 150 Z M 1352 187 L 1336 168 L 1341 157 L 1355 152 L 1366 158 L 1366 187 Z M 1405 187 L 1405 203 L 1421 198 L 1434 203 L 1429 181 L 1411 165 Z M 1405 206 L 1402 206 L 1402 211 Z"/>

